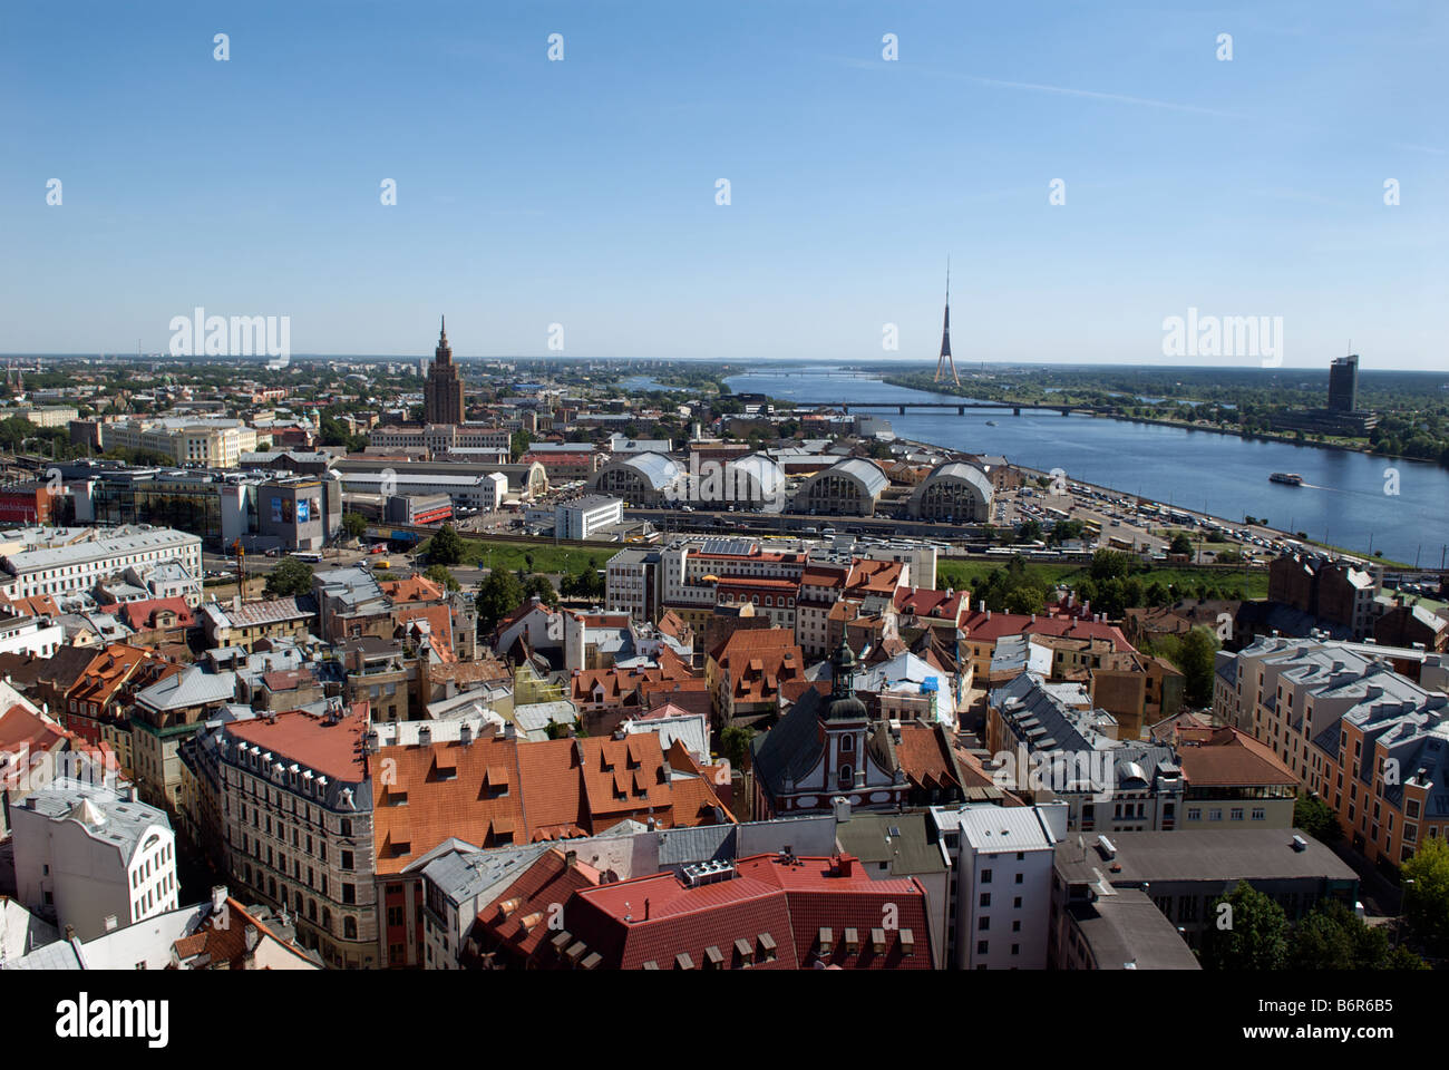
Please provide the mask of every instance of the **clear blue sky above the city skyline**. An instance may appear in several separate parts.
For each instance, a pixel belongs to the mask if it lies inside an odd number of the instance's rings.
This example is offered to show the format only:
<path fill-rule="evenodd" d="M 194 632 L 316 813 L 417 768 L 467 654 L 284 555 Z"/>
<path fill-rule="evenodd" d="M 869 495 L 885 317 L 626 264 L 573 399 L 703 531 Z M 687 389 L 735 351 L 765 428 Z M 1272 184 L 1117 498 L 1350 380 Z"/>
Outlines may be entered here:
<path fill-rule="evenodd" d="M 1282 316 L 1285 365 L 1446 368 L 1446 30 L 1437 0 L 7 4 L 0 351 L 159 351 L 203 306 L 291 316 L 294 352 L 429 354 L 445 312 L 459 355 L 562 323 L 574 357 L 932 358 L 949 254 L 959 362 L 1162 364 L 1197 307 Z"/>

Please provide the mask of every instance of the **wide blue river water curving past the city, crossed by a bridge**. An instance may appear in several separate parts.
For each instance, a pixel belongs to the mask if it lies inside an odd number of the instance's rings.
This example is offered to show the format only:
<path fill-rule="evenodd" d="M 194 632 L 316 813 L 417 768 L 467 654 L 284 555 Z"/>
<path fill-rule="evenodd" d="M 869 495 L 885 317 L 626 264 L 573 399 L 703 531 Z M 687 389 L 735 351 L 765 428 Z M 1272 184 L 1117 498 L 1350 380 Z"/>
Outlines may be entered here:
<path fill-rule="evenodd" d="M 827 371 L 819 364 L 771 365 L 769 374 L 726 381 L 735 393 L 809 402 L 952 400 Z M 1065 468 L 1072 480 L 1232 521 L 1252 515 L 1361 554 L 1381 549 L 1385 558 L 1437 568 L 1449 547 L 1449 470 L 1437 464 L 1080 415 L 958 416 L 949 409 L 878 415 L 901 438 L 1001 454 L 1029 468 Z M 1298 473 L 1304 486 L 1269 483 L 1274 471 Z M 1387 493 L 1392 490 L 1398 493 Z"/>

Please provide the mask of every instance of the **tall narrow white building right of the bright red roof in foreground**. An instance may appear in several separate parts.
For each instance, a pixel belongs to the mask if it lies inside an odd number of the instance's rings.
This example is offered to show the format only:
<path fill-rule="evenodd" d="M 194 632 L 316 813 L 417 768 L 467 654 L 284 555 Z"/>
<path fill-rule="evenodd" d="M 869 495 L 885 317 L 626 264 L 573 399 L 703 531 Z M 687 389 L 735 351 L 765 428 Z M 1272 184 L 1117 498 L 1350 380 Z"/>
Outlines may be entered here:
<path fill-rule="evenodd" d="M 1055 847 L 1066 805 L 933 806 L 956 873 L 948 951 L 958 970 L 1045 970 Z"/>

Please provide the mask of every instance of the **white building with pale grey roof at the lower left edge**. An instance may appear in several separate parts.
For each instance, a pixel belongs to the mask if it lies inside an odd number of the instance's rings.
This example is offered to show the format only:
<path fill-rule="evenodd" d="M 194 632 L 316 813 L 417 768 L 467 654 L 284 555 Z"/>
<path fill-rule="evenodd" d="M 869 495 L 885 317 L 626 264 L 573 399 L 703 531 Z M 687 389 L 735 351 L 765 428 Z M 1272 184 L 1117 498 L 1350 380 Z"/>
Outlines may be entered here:
<path fill-rule="evenodd" d="M 175 832 L 133 790 L 55 780 L 10 822 L 20 902 L 78 938 L 177 909 Z"/>

